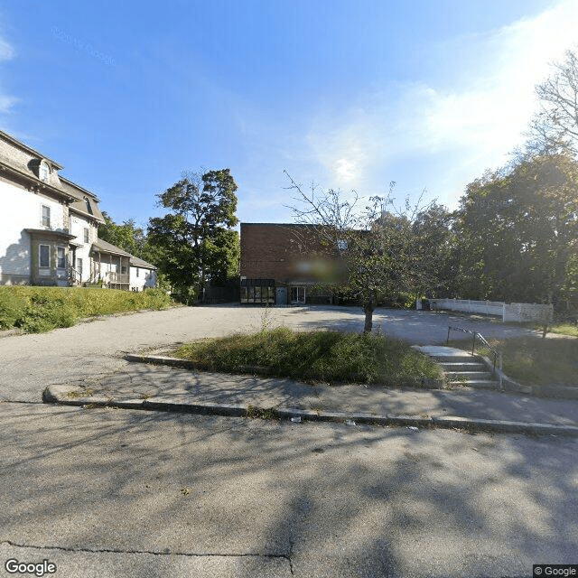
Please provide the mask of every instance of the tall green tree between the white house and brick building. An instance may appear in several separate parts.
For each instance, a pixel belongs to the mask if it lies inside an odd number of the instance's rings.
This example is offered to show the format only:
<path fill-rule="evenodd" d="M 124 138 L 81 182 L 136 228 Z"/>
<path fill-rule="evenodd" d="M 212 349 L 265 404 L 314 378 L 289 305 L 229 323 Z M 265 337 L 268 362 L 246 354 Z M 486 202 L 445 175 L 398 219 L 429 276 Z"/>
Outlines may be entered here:
<path fill-rule="evenodd" d="M 149 219 L 148 240 L 162 255 L 158 266 L 181 292 L 202 294 L 210 280 L 227 278 L 238 263 L 237 184 L 228 169 L 182 179 L 157 195 L 170 212 Z"/>

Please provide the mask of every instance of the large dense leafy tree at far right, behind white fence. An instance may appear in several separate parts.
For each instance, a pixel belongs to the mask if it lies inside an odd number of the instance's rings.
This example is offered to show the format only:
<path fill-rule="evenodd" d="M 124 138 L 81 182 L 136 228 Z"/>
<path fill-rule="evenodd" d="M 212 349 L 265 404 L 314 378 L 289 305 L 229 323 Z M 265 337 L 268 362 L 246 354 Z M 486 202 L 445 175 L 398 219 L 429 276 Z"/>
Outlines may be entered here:
<path fill-rule="evenodd" d="M 574 284 L 578 163 L 543 154 L 472 182 L 456 228 L 463 297 L 553 303 Z"/>

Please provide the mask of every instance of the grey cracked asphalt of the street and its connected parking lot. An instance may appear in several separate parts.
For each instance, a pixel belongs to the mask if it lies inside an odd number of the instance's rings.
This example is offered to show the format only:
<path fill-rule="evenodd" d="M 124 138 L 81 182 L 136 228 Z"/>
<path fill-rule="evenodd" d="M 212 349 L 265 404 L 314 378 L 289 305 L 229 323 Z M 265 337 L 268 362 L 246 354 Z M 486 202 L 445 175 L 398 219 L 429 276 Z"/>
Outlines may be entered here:
<path fill-rule="evenodd" d="M 359 310 L 271 311 L 290 326 L 362 326 Z M 401 313 L 388 331 L 443 341 L 447 318 Z M 517 577 L 578 563 L 573 438 L 41 403 L 79 372 L 113 378 L 126 351 L 264 321 L 203 307 L 0 340 L 2 575 L 10 558 L 70 578 Z"/>

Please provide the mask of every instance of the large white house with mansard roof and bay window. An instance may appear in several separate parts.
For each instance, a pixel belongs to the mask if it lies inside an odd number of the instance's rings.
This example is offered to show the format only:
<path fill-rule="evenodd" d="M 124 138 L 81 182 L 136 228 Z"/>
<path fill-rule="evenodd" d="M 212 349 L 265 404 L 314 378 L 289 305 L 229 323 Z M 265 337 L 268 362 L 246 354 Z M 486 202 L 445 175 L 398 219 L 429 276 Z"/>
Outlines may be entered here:
<path fill-rule="evenodd" d="M 156 267 L 141 259 L 148 284 L 130 283 L 135 257 L 98 239 L 98 198 L 61 169 L 0 131 L 0 284 L 154 286 Z"/>

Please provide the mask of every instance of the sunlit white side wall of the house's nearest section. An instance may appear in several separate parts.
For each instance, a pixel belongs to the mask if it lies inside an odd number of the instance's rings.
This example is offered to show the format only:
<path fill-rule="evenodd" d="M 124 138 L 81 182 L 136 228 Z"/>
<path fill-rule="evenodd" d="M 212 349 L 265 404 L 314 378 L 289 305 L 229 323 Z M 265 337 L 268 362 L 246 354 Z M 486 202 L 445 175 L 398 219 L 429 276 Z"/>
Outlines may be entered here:
<path fill-rule="evenodd" d="M 63 229 L 64 205 L 0 181 L 0 276 L 30 275 L 30 237 L 42 227 L 42 205 L 51 208 L 51 229 Z"/>

